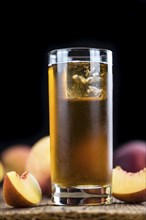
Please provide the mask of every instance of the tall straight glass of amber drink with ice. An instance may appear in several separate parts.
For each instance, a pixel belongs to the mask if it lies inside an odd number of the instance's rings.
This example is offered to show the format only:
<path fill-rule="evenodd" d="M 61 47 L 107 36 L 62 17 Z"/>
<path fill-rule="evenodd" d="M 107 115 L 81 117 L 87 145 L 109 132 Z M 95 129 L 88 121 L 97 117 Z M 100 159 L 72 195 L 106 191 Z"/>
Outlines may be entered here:
<path fill-rule="evenodd" d="M 57 49 L 48 59 L 52 201 L 110 204 L 112 51 Z"/>

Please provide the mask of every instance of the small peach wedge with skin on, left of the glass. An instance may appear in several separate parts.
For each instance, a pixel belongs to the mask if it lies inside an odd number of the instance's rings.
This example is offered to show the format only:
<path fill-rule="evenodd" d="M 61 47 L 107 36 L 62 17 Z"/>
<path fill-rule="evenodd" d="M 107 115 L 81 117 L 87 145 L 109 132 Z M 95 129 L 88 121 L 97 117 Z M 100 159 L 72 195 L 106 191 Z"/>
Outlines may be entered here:
<path fill-rule="evenodd" d="M 15 171 L 11 171 L 4 178 L 3 197 L 10 206 L 29 207 L 41 201 L 42 192 L 31 173 L 26 171 L 20 177 Z"/>

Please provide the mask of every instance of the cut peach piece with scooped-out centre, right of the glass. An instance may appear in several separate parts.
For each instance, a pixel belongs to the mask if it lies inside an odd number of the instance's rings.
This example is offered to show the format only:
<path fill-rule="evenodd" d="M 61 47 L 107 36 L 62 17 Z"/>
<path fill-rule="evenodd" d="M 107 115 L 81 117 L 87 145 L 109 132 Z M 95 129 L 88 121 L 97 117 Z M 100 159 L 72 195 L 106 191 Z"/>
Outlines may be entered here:
<path fill-rule="evenodd" d="M 120 166 L 114 168 L 112 194 L 128 203 L 146 201 L 146 168 L 137 173 L 126 172 Z"/>

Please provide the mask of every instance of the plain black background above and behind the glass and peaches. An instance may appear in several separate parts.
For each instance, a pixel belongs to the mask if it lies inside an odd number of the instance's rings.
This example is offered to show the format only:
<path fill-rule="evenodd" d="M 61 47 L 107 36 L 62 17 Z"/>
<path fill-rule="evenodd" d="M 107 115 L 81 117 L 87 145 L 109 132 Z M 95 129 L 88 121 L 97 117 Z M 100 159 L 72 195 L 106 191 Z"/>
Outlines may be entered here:
<path fill-rule="evenodd" d="M 47 53 L 73 46 L 113 51 L 114 149 L 128 140 L 146 140 L 145 3 L 35 3 L 3 9 L 1 150 L 15 143 L 33 144 L 48 134 Z"/>

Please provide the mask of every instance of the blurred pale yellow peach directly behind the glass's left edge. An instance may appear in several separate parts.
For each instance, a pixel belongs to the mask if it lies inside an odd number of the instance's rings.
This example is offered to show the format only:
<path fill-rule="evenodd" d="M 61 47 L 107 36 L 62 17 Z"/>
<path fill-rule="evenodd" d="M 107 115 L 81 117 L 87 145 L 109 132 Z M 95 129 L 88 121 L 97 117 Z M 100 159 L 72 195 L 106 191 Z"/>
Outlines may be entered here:
<path fill-rule="evenodd" d="M 34 143 L 27 159 L 26 170 L 36 177 L 42 189 L 42 193 L 46 196 L 50 196 L 51 177 L 49 136 L 44 136 Z"/>

